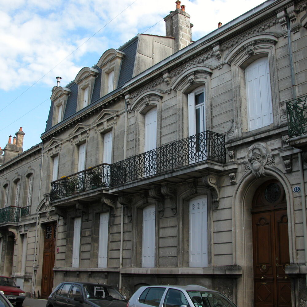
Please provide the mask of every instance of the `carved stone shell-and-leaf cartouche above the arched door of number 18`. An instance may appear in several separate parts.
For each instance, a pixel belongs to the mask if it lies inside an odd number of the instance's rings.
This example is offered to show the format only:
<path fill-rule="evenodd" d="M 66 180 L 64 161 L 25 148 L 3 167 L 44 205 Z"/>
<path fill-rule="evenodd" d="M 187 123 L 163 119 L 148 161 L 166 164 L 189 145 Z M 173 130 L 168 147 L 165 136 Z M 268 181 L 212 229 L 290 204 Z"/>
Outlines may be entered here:
<path fill-rule="evenodd" d="M 248 153 L 248 159 L 244 162 L 245 171 L 251 170 L 256 178 L 266 176 L 266 166 L 274 166 L 275 159 L 272 153 L 268 154 L 268 151 L 264 146 L 255 146 Z"/>

